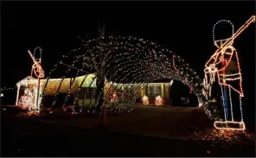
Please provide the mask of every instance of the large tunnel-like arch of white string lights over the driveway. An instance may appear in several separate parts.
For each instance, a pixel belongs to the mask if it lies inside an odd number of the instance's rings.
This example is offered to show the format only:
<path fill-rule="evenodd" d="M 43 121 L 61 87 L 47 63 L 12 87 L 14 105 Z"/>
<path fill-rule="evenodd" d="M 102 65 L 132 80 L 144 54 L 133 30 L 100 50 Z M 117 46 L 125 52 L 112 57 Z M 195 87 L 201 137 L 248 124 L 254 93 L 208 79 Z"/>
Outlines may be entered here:
<path fill-rule="evenodd" d="M 104 44 L 102 44 L 104 43 Z M 98 52 L 95 54 L 95 52 Z M 100 52 L 100 53 L 99 53 Z M 104 60 L 99 60 L 99 56 L 103 55 Z M 84 59 L 89 58 L 92 62 L 85 63 Z M 102 58 L 101 58 L 102 59 Z M 103 70 L 99 69 L 104 65 Z M 96 67 L 98 66 L 98 67 Z M 60 62 L 54 65 L 54 68 L 50 71 L 48 78 L 44 84 L 42 92 L 42 102 L 45 98 L 45 92 L 48 87 L 48 82 L 51 78 L 54 78 L 54 73 L 66 68 L 66 72 L 62 78 L 59 79 L 59 85 L 54 92 L 54 101 L 51 104 L 52 110 L 54 110 L 55 104 L 58 101 L 61 85 L 63 81 L 70 73 L 73 73 L 72 78 L 69 79 L 70 86 L 67 90 L 67 95 L 63 101 L 62 108 L 67 108 L 67 102 L 71 99 L 72 85 L 77 82 L 77 78 L 83 75 L 81 84 L 78 85 L 77 91 L 80 92 L 82 84 L 87 76 L 92 75 L 93 78 L 91 84 L 87 87 L 87 92 L 93 87 L 93 83 L 97 79 L 97 76 L 104 72 L 105 86 L 108 85 L 108 89 L 104 92 L 104 107 L 109 113 L 120 113 L 125 111 L 131 111 L 133 104 L 136 101 L 138 92 L 148 83 L 156 81 L 158 79 L 176 79 L 180 80 L 184 85 L 188 85 L 193 92 L 195 92 L 198 98 L 198 103 L 201 105 L 208 104 L 207 98 L 202 93 L 204 87 L 202 85 L 202 79 L 189 67 L 189 64 L 185 63 L 182 58 L 169 49 L 157 45 L 154 42 L 145 41 L 132 36 L 101 36 L 92 40 L 85 41 L 81 47 L 71 50 L 69 54 L 63 55 Z M 128 89 L 128 91 L 117 91 L 118 89 Z M 115 102 L 112 92 L 117 92 L 119 95 L 124 96 L 127 102 L 122 103 L 120 101 Z M 96 106 L 99 101 L 99 96 L 95 96 L 95 103 L 93 103 L 93 97 L 91 96 L 90 104 L 78 108 L 77 99 L 74 97 L 74 112 L 95 112 Z M 88 99 L 85 96 L 83 103 Z M 157 98 L 157 103 L 159 97 Z M 114 105 L 113 105 L 114 104 Z M 208 110 L 208 106 L 203 106 L 203 109 L 210 117 L 214 117 L 214 112 Z M 214 119 L 217 119 L 214 117 Z"/>

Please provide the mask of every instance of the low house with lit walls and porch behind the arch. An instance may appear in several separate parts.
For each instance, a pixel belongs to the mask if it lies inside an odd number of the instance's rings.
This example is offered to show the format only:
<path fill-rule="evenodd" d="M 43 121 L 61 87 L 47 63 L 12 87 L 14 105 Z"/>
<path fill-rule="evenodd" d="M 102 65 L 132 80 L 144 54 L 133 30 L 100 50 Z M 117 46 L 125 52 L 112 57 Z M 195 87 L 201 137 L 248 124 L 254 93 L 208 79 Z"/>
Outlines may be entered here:
<path fill-rule="evenodd" d="M 47 86 L 45 87 L 45 84 Z M 88 74 L 77 78 L 65 79 L 41 79 L 39 95 L 37 95 L 38 79 L 31 76 L 22 79 L 17 84 L 16 104 L 37 107 L 42 101 L 43 106 L 51 106 L 53 102 L 62 104 L 67 99 L 67 104 L 88 105 L 95 104 L 96 78 L 94 74 Z M 107 82 L 104 88 L 105 100 L 108 103 L 125 101 L 129 92 L 136 93 L 137 104 L 170 104 L 170 83 L 118 84 Z M 56 99 L 57 98 L 57 99 Z M 71 98 L 71 99 L 70 99 Z"/>

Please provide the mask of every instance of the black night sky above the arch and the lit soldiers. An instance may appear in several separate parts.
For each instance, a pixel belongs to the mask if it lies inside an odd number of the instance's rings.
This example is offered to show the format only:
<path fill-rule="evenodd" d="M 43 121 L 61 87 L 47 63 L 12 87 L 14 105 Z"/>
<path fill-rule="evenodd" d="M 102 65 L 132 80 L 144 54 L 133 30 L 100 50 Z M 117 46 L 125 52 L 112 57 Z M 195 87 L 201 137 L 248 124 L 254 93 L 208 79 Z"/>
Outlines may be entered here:
<path fill-rule="evenodd" d="M 234 29 L 255 15 L 252 2 L 2 2 L 1 81 L 13 86 L 30 74 L 27 50 L 43 49 L 49 70 L 62 54 L 80 46 L 76 35 L 96 35 L 105 19 L 106 35 L 133 35 L 155 41 L 179 54 L 197 73 L 213 54 L 214 23 L 227 19 Z M 255 24 L 235 41 L 246 94 L 253 87 Z M 253 85 L 249 85 L 253 84 Z M 254 93 L 253 93 L 254 97 Z"/>

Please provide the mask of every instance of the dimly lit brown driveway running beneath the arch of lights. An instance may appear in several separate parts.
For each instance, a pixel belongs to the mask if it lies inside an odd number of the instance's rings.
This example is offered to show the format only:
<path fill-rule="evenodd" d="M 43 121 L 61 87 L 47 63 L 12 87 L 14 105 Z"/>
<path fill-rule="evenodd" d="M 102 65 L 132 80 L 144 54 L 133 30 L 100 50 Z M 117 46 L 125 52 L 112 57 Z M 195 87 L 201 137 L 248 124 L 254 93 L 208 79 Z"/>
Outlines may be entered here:
<path fill-rule="evenodd" d="M 44 123 L 65 124 L 68 126 L 95 128 L 99 117 L 62 117 L 42 119 Z M 201 109 L 191 107 L 150 107 L 135 106 L 128 114 L 108 116 L 108 130 L 143 136 L 185 138 L 187 126 L 211 128 L 213 123 Z"/>

